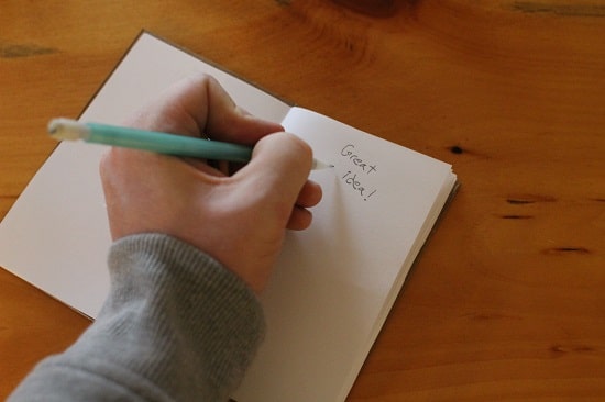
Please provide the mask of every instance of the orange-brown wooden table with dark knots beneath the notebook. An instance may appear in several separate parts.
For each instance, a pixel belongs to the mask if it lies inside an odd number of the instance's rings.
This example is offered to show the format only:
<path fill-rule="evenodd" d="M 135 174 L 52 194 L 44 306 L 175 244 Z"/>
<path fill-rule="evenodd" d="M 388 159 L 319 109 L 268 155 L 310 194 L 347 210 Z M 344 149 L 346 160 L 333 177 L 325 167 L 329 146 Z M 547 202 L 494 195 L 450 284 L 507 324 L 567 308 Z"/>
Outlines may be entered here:
<path fill-rule="evenodd" d="M 367 2 L 367 1 L 366 1 Z M 364 2 L 365 3 L 365 2 Z M 605 400 L 605 1 L 1 1 L 0 216 L 141 29 L 454 165 L 350 401 Z M 32 250 L 35 253 L 35 250 Z M 0 270 L 0 397 L 89 321 Z"/>

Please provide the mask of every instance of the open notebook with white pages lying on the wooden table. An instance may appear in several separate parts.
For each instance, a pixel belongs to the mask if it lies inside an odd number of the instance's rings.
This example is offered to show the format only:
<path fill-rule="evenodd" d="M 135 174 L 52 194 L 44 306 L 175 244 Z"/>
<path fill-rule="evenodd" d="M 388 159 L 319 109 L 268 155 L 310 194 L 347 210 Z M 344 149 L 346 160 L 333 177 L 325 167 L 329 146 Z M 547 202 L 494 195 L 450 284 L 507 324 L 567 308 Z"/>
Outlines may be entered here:
<path fill-rule="evenodd" d="M 455 188 L 450 165 L 293 107 L 142 33 L 81 121 L 119 124 L 172 82 L 215 76 L 237 103 L 282 122 L 333 169 L 314 171 L 314 224 L 288 233 L 262 297 L 268 333 L 233 398 L 343 401 L 418 252 Z M 54 116 L 48 116 L 54 118 Z M 43 127 L 40 133 L 45 135 Z M 0 224 L 0 265 L 95 317 L 110 245 L 98 161 L 106 148 L 63 143 Z"/>

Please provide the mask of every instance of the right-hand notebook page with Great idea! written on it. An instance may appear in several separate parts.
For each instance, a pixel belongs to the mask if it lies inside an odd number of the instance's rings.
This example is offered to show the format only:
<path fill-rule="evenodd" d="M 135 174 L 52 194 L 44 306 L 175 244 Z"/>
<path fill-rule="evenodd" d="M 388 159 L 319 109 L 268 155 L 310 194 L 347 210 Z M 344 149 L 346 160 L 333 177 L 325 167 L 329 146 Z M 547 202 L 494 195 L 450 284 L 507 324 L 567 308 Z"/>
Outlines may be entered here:
<path fill-rule="evenodd" d="M 455 177 L 308 110 L 283 124 L 334 168 L 311 175 L 323 199 L 310 228 L 288 233 L 262 298 L 267 337 L 235 400 L 343 401 Z"/>

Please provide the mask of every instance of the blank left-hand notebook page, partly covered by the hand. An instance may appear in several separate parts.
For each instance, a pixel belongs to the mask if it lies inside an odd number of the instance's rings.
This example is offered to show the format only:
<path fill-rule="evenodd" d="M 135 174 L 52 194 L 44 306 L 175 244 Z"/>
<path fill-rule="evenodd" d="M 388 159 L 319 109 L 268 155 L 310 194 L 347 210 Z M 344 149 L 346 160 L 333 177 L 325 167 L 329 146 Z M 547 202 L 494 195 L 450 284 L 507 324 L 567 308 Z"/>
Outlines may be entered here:
<path fill-rule="evenodd" d="M 173 82 L 198 71 L 217 78 L 238 104 L 255 115 L 278 122 L 289 109 L 260 89 L 142 34 L 80 120 L 120 124 Z M 92 317 L 109 289 L 110 236 L 98 176 L 106 149 L 62 143 L 0 224 L 0 266 Z"/>

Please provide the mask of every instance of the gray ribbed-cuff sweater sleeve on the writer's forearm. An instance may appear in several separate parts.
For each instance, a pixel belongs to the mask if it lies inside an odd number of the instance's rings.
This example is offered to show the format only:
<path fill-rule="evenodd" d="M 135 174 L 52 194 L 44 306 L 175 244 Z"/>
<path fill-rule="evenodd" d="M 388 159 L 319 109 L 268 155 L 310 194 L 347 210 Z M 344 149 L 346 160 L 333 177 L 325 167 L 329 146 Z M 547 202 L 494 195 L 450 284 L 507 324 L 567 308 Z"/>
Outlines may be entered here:
<path fill-rule="evenodd" d="M 264 334 L 242 280 L 161 234 L 114 243 L 110 294 L 65 353 L 43 360 L 10 401 L 227 401 Z"/>

